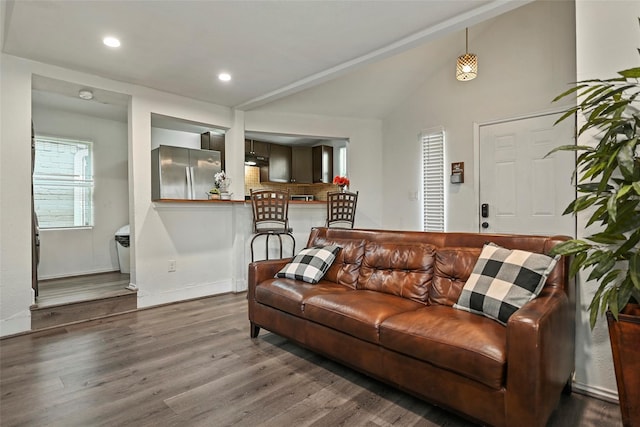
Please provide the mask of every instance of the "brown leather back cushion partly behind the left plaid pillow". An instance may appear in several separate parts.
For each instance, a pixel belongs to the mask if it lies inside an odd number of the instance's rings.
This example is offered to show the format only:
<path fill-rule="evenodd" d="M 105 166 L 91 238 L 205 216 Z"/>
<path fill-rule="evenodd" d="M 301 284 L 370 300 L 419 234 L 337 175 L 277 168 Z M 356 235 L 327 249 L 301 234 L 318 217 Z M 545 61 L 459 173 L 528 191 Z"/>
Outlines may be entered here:
<path fill-rule="evenodd" d="M 364 258 L 365 241 L 362 239 L 327 239 L 319 237 L 310 242 L 313 246 L 340 246 L 340 251 L 336 255 L 324 278 L 330 282 L 356 288 L 360 266 Z"/>

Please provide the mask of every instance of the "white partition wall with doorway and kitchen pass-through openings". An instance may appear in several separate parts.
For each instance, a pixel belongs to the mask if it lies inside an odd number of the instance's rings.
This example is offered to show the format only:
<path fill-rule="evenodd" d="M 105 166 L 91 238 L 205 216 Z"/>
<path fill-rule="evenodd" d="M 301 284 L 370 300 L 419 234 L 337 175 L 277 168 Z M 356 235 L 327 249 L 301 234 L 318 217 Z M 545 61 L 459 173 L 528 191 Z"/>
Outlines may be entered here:
<path fill-rule="evenodd" d="M 138 307 L 212 295 L 245 287 L 250 214 L 244 204 L 198 205 L 151 202 L 151 114 L 229 129 L 227 173 L 231 191 L 242 198 L 245 113 L 141 86 L 104 79 L 2 54 L 0 146 L 0 336 L 30 329 L 31 78 L 33 74 L 130 96 L 128 127 L 131 282 Z M 354 189 L 369 194 L 358 203 L 358 223 L 381 223 L 381 123 L 291 114 L 246 115 L 251 130 L 341 137 L 351 141 L 349 171 Z M 373 171 L 373 173 L 372 173 Z M 311 215 L 312 218 L 318 214 Z M 316 218 L 317 219 L 317 218 Z M 296 223 L 306 242 L 307 219 Z M 299 234 L 298 234 L 299 233 Z M 238 256 L 240 255 L 240 256 Z M 177 271 L 168 272 L 175 260 Z"/>

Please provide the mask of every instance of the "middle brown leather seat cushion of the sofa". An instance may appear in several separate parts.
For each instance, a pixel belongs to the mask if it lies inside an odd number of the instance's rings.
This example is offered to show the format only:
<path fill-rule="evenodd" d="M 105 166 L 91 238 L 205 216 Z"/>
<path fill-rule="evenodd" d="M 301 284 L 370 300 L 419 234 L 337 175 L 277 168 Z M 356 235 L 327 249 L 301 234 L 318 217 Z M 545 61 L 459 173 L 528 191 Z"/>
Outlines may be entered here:
<path fill-rule="evenodd" d="M 378 343 L 378 326 L 386 318 L 424 307 L 415 301 L 375 291 L 350 291 L 307 298 L 304 317 L 321 325 Z"/>

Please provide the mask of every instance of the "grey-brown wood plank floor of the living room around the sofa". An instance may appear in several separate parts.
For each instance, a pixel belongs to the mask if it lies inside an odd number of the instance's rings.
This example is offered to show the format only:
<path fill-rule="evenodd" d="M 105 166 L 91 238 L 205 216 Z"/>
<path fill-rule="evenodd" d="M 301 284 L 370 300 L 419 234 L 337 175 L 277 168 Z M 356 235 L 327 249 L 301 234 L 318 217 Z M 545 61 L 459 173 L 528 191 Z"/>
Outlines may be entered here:
<path fill-rule="evenodd" d="M 244 294 L 0 340 L 8 426 L 471 426 L 266 331 Z M 617 405 L 563 396 L 549 426 L 620 426 Z"/>

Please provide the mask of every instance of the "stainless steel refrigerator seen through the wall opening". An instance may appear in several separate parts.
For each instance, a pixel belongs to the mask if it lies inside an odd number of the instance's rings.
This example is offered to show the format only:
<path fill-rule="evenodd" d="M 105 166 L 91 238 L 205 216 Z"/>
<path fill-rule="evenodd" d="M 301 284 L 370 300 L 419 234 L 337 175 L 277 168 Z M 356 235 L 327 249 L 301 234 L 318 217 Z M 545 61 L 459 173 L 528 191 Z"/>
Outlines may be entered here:
<path fill-rule="evenodd" d="M 220 165 L 219 151 L 161 145 L 151 150 L 151 199 L 207 199 Z"/>

